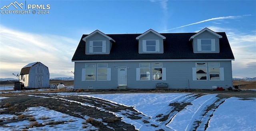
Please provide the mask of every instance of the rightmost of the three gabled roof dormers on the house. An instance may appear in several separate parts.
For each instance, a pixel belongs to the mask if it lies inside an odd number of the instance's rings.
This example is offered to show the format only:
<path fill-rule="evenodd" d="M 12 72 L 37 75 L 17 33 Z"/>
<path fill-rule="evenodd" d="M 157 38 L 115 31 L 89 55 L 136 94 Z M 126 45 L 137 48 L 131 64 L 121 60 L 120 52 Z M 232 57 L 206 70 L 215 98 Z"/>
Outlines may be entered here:
<path fill-rule="evenodd" d="M 194 53 L 219 53 L 220 38 L 222 36 L 219 34 L 208 28 L 204 28 L 191 36 L 189 41 L 192 41 Z"/>

